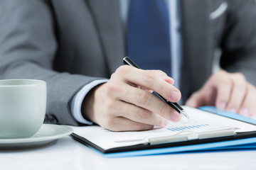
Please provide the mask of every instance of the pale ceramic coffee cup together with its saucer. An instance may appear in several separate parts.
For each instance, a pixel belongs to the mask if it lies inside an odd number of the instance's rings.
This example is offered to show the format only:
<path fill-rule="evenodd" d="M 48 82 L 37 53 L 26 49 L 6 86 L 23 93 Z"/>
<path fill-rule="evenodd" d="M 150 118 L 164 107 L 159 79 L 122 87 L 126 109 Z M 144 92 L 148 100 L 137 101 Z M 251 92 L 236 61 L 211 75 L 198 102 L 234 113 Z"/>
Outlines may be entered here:
<path fill-rule="evenodd" d="M 70 135 L 72 128 L 43 124 L 46 82 L 0 80 L 0 149 L 38 147 Z"/>

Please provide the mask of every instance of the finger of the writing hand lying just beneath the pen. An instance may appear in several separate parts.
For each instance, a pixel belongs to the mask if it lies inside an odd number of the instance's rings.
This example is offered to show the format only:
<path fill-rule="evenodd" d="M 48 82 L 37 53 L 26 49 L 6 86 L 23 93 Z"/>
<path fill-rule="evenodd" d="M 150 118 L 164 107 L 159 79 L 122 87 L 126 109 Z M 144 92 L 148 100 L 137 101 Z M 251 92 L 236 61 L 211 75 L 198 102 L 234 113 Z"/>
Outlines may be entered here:
<path fill-rule="evenodd" d="M 154 96 L 154 94 L 151 94 L 149 91 L 144 91 L 129 86 L 128 84 L 123 84 L 123 86 L 124 91 L 122 91 L 122 94 L 119 94 L 119 100 L 132 103 L 140 108 L 151 111 L 152 113 L 159 114 L 172 122 L 181 120 L 181 115 L 175 111 L 174 108 L 171 108 L 171 106 L 160 98 Z"/>

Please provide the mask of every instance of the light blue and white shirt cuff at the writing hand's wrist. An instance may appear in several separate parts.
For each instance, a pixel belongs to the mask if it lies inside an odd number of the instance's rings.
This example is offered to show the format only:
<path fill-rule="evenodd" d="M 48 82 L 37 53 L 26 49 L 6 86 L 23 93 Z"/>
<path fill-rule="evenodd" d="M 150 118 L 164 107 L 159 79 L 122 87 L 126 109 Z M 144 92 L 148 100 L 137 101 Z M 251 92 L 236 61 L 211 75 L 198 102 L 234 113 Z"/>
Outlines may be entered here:
<path fill-rule="evenodd" d="M 80 91 L 78 91 L 78 93 L 75 94 L 75 96 L 73 97 L 72 103 L 71 103 L 71 112 L 72 112 L 72 115 L 75 118 L 75 120 L 77 120 L 79 123 L 92 125 L 92 122 L 90 122 L 82 117 L 82 111 L 81 111 L 82 101 L 85 98 L 85 96 L 87 95 L 87 93 L 92 88 L 94 88 L 95 86 L 97 86 L 99 84 L 106 83 L 107 81 L 109 81 L 109 80 L 108 79 L 100 79 L 100 80 L 92 81 L 89 84 L 86 84 L 85 86 L 83 86 L 82 89 L 80 89 Z"/>

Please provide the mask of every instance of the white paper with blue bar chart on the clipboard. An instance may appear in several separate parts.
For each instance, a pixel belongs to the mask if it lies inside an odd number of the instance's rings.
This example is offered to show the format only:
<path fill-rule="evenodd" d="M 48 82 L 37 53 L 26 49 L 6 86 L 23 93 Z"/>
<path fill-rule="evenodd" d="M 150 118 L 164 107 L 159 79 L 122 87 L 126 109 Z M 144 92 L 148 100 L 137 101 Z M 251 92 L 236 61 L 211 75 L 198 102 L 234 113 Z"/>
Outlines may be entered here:
<path fill-rule="evenodd" d="M 197 108 L 183 106 L 190 116 L 182 118 L 178 123 L 169 122 L 164 128 L 155 127 L 152 130 L 138 132 L 112 132 L 100 126 L 72 127 L 73 138 L 95 147 L 100 152 L 118 152 L 157 148 L 157 146 L 190 145 L 210 141 L 209 139 L 233 139 L 238 133 L 256 132 L 256 126 L 240 120 L 226 118 Z M 151 146 L 151 147 L 149 147 Z"/>

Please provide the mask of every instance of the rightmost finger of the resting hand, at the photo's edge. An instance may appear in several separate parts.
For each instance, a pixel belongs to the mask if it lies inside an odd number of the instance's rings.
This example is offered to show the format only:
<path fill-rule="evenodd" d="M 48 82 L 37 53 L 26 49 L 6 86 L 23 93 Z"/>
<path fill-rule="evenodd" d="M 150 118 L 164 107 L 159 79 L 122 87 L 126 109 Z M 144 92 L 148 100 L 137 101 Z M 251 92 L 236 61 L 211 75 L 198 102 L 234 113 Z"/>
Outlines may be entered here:
<path fill-rule="evenodd" d="M 252 117 L 256 115 L 256 89 L 255 86 L 252 86 L 252 84 L 247 84 L 246 89 L 247 90 L 245 98 L 238 113 L 241 115 Z"/>

